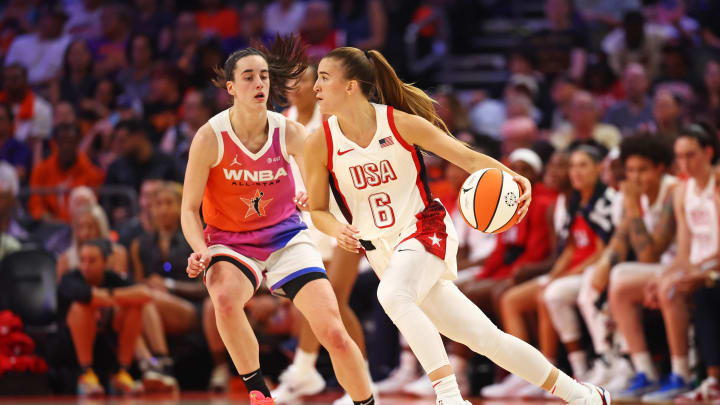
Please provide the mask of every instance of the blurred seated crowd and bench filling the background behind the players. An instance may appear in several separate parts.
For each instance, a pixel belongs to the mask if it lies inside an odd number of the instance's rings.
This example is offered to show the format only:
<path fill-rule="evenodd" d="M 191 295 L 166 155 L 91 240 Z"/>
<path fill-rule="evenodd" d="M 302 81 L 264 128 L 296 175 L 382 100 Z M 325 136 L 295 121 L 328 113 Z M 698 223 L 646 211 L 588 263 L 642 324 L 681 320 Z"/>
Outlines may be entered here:
<path fill-rule="evenodd" d="M 471 53 L 464 40 L 516 18 L 522 3 L 543 14 L 509 33 L 518 45 L 502 51 L 501 83 L 437 83 L 430 73 L 442 58 L 421 68 L 406 49 L 413 32 L 417 52 Z M 457 283 L 503 330 L 616 396 L 720 400 L 720 2 L 711 0 L 4 2 L 0 259 L 28 248 L 56 256 L 58 324 L 74 349 L 58 363 L 75 378 L 98 378 L 81 371 L 97 360 L 93 342 L 114 335 L 113 389 L 185 387 L 183 374 L 197 382 L 203 367 L 210 389 L 227 389 L 233 370 L 212 304 L 202 280 L 185 275 L 181 182 L 195 132 L 231 103 L 213 68 L 277 34 L 299 35 L 314 62 L 343 45 L 382 51 L 433 95 L 454 136 L 530 179 L 527 218 L 487 235 L 456 207 L 467 173 L 425 159 L 462 239 Z M 310 130 L 315 79 L 309 69 L 278 106 Z M 378 388 L 432 396 L 388 331 L 368 270 L 361 262 L 351 304 Z M 90 302 L 98 288 L 107 296 Z M 277 376 L 299 315 L 267 293 L 246 309 L 263 367 L 276 371 L 266 374 Z M 192 353 L 178 339 L 208 361 L 183 362 Z M 482 379 L 466 348 L 449 351 L 466 391 L 543 396 L 501 370 Z M 97 393 L 82 378 L 80 393 Z"/>

